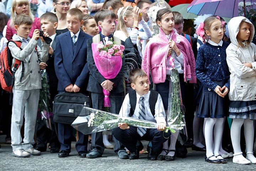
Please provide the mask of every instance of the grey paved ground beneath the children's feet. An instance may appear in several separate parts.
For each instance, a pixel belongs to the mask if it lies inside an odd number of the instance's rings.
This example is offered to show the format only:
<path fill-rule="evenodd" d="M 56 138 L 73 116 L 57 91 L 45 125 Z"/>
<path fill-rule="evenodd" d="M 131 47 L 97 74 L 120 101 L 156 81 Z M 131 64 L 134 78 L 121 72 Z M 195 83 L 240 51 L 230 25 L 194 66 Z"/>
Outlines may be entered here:
<path fill-rule="evenodd" d="M 175 161 L 148 161 L 147 155 L 141 154 L 138 160 L 122 160 L 106 149 L 102 157 L 97 159 L 80 158 L 72 143 L 70 156 L 59 158 L 57 154 L 43 152 L 40 156 L 18 158 L 11 156 L 10 144 L 4 144 L 4 135 L 0 136 L 0 171 L 250 171 L 256 170 L 256 165 L 238 165 L 228 159 L 227 164 L 210 164 L 204 161 L 204 152 L 192 151 L 188 148 L 187 158 L 177 158 Z M 146 146 L 147 142 L 143 142 Z"/>

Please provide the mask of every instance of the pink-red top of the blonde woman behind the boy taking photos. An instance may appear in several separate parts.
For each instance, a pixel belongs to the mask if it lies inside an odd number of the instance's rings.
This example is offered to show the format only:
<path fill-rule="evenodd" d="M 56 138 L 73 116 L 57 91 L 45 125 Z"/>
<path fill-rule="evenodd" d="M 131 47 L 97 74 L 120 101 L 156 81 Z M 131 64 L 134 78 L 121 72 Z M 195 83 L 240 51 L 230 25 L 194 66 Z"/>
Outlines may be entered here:
<path fill-rule="evenodd" d="M 12 38 L 12 36 L 17 33 L 17 31 L 15 30 L 14 27 L 10 27 L 10 21 L 11 21 L 11 19 L 7 22 L 7 27 L 6 27 L 5 38 L 7 40 L 10 40 Z M 38 18 L 38 17 L 34 17 L 34 22 L 32 23 L 30 34 L 28 35 L 28 37 L 32 38 L 34 30 L 36 30 L 36 29 L 41 30 L 40 18 Z"/>

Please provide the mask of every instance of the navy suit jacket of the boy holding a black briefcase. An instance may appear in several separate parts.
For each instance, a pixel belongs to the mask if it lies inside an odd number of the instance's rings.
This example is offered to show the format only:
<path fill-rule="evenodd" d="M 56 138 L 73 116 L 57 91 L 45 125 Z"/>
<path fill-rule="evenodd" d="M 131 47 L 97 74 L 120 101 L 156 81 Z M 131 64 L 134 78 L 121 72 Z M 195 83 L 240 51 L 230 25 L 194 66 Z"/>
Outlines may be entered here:
<path fill-rule="evenodd" d="M 65 91 L 69 84 L 77 85 L 86 91 L 88 82 L 87 39 L 91 36 L 80 30 L 75 52 L 70 32 L 57 36 L 54 66 L 58 77 L 58 91 Z"/>

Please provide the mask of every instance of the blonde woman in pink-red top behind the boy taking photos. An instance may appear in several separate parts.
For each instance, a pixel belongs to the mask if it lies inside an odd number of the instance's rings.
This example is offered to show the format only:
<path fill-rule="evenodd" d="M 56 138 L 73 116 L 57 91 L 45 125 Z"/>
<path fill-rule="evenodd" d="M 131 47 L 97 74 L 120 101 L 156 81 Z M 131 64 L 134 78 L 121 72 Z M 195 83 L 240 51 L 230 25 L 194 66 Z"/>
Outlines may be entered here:
<path fill-rule="evenodd" d="M 33 21 L 28 37 L 32 38 L 34 30 L 40 30 L 40 19 L 38 17 L 34 17 L 31 13 L 28 0 L 13 0 L 11 3 L 11 19 L 8 21 L 6 28 L 5 37 L 7 40 L 10 40 L 12 36 L 17 33 L 14 28 L 14 18 L 19 14 L 26 14 L 30 16 Z"/>

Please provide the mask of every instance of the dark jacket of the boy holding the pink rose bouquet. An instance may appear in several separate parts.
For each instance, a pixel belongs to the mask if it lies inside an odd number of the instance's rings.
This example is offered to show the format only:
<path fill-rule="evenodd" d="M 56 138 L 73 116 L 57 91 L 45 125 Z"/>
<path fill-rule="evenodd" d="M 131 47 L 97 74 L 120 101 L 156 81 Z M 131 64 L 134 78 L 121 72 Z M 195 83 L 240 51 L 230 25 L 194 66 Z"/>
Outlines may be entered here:
<path fill-rule="evenodd" d="M 102 37 L 100 36 L 100 41 L 103 41 Z M 122 45 L 124 46 L 124 42 L 121 41 Z M 105 79 L 101 73 L 98 71 L 94 58 L 92 55 L 92 38 L 87 41 L 87 60 L 88 60 L 88 68 L 90 71 L 89 82 L 87 86 L 87 91 L 94 92 L 94 93 L 103 93 L 101 83 L 107 79 Z M 125 54 L 124 54 L 125 55 Z M 115 86 L 113 86 L 113 90 L 111 93 L 121 93 L 124 92 L 124 85 L 123 85 L 123 70 L 124 70 L 124 56 L 122 58 L 122 68 L 117 74 L 117 76 L 110 81 L 114 82 Z"/>

